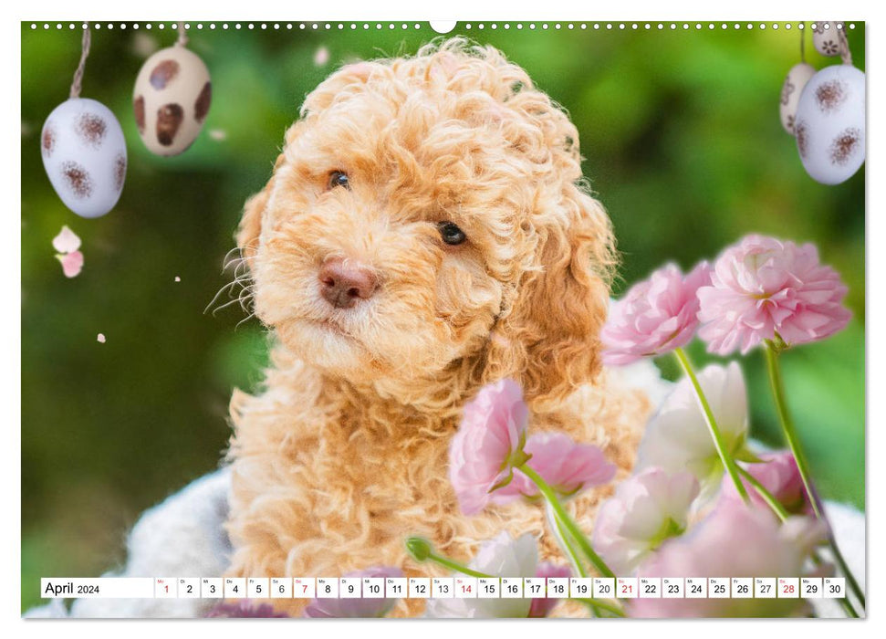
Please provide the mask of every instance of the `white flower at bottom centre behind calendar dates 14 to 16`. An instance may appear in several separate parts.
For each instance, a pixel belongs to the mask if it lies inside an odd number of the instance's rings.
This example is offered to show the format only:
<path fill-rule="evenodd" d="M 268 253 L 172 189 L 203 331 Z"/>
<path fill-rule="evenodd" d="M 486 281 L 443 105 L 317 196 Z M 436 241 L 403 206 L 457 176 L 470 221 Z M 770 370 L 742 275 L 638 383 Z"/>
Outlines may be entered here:
<path fill-rule="evenodd" d="M 485 541 L 468 568 L 495 577 L 535 577 L 538 548 L 532 535 L 526 533 L 511 539 L 506 532 Z M 429 599 L 425 616 L 435 619 L 491 619 L 526 617 L 530 599 Z"/>

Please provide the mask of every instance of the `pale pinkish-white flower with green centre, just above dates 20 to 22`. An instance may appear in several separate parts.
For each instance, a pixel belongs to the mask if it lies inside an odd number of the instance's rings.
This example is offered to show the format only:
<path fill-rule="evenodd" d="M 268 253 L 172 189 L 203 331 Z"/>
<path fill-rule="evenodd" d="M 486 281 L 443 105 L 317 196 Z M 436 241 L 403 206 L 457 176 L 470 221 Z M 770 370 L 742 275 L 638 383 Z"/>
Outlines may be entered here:
<path fill-rule="evenodd" d="M 698 491 L 690 473 L 661 468 L 625 479 L 599 509 L 594 549 L 616 575 L 631 574 L 665 539 L 683 533 Z"/>

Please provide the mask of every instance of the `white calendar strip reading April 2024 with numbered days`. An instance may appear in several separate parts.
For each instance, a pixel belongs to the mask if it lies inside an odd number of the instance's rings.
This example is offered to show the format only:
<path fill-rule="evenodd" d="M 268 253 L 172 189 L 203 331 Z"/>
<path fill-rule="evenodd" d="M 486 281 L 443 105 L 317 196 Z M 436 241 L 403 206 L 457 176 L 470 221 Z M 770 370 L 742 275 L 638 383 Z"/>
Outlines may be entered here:
<path fill-rule="evenodd" d="M 843 599 L 841 577 L 98 577 L 40 580 L 44 599 Z"/>

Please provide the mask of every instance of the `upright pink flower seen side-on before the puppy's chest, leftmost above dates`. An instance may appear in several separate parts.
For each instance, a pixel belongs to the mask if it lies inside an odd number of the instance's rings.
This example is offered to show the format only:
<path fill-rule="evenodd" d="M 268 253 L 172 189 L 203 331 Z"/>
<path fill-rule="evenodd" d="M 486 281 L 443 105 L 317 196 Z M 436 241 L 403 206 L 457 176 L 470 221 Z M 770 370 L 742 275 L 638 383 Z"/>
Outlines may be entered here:
<path fill-rule="evenodd" d="M 513 477 L 526 455 L 528 409 L 512 380 L 484 386 L 464 406 L 458 432 L 449 446 L 449 478 L 465 515 L 475 515 L 496 487 Z"/>

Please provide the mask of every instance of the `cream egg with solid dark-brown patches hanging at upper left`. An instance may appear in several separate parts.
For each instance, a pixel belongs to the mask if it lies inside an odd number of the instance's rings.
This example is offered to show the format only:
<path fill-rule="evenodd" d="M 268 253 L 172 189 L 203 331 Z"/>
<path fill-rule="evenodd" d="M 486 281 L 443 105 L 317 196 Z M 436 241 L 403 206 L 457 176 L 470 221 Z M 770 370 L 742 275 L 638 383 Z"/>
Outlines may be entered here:
<path fill-rule="evenodd" d="M 132 107 L 139 135 L 157 155 L 178 155 L 196 140 L 213 89 L 203 60 L 183 45 L 145 60 L 135 80 Z"/>

